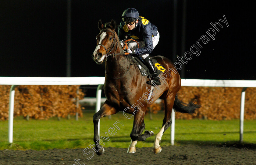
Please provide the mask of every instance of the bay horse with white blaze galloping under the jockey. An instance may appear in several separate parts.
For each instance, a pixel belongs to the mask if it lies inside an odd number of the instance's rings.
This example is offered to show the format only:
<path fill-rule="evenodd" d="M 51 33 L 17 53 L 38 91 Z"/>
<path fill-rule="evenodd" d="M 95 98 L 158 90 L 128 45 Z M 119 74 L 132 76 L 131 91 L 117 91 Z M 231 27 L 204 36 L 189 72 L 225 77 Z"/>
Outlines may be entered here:
<path fill-rule="evenodd" d="M 152 57 L 156 59 L 162 66 L 165 67 L 165 79 L 162 78 L 162 84 L 155 86 L 157 92 L 152 94 L 150 103 L 147 99 L 142 99 L 143 94 L 148 93 L 148 78 L 142 76 L 136 65 L 131 64 L 130 55 L 125 55 L 121 48 L 118 36 L 115 32 L 116 23 L 111 22 L 102 24 L 98 22 L 100 33 L 97 35 L 97 46 L 92 54 L 93 60 L 101 64 L 105 59 L 105 83 L 104 93 L 106 101 L 100 110 L 94 114 L 94 143 L 95 150 L 98 155 L 104 153 L 104 148 L 99 144 L 98 122 L 101 117 L 116 114 L 119 111 L 133 114 L 133 128 L 130 133 L 131 144 L 127 153 L 136 152 L 135 145 L 137 140 L 144 141 L 146 138 L 154 135 L 152 131 L 142 132 L 145 128 L 144 115 L 149 104 L 155 102 L 158 98 L 164 100 L 165 116 L 163 119 L 162 128 L 155 136 L 153 150 L 155 154 L 161 152 L 159 141 L 163 133 L 171 125 L 172 108 L 181 113 L 195 113 L 195 109 L 200 108 L 200 105 L 190 102 L 189 104 L 182 103 L 177 92 L 180 90 L 181 80 L 180 75 L 174 68 L 173 63 L 164 56 Z M 126 53 L 127 54 L 127 53 Z"/>

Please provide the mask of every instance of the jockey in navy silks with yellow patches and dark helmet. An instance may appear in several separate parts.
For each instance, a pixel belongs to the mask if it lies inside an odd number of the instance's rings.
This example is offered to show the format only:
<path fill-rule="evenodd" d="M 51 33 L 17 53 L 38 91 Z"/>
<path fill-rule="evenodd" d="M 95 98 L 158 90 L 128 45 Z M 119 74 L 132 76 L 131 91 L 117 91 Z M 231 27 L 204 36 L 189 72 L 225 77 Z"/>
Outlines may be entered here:
<path fill-rule="evenodd" d="M 144 17 L 139 16 L 139 12 L 135 8 L 127 8 L 121 17 L 123 21 L 118 27 L 118 38 L 120 44 L 123 47 L 125 35 L 131 37 L 139 43 L 139 47 L 136 42 L 129 41 L 128 49 L 131 55 L 137 55 L 144 60 L 149 72 L 152 74 L 152 82 L 155 85 L 160 85 L 159 77 L 155 70 L 154 64 L 151 58 L 148 56 L 153 51 L 159 41 L 159 33 L 157 27 L 149 22 Z"/>

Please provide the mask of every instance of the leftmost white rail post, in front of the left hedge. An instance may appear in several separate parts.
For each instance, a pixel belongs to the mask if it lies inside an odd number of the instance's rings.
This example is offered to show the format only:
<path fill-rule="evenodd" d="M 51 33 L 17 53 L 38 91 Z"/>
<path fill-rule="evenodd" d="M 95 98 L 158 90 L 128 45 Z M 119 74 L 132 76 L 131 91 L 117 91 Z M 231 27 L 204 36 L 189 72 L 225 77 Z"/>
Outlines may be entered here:
<path fill-rule="evenodd" d="M 14 94 L 16 85 L 12 85 L 9 96 L 9 121 L 8 121 L 8 142 L 13 140 L 13 111 L 14 111 Z"/>

